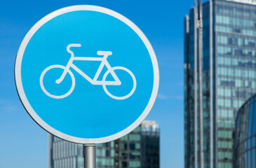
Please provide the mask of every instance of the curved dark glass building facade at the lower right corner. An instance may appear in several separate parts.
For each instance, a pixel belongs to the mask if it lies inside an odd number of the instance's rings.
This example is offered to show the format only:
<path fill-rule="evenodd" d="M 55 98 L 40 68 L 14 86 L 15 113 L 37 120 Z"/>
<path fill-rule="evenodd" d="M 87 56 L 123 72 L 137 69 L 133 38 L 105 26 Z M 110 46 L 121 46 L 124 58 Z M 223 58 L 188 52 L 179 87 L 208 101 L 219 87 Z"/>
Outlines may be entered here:
<path fill-rule="evenodd" d="M 256 94 L 237 113 L 233 163 L 234 168 L 256 167 Z"/>

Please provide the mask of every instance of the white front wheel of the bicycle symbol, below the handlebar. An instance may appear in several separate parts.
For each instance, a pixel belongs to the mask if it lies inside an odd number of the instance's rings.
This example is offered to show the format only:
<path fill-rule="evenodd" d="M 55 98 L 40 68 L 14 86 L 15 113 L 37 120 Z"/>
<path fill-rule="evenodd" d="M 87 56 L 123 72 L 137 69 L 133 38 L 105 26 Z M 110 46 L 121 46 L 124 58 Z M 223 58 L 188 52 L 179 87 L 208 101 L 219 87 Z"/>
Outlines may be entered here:
<path fill-rule="evenodd" d="M 65 70 L 65 66 L 62 66 L 62 65 L 58 65 L 58 64 L 55 64 L 55 65 L 52 65 L 52 66 L 48 66 L 46 69 L 43 70 L 43 72 L 41 73 L 41 76 L 40 76 L 40 86 L 41 86 L 41 89 L 43 90 L 43 92 L 48 95 L 48 97 L 52 97 L 54 99 L 62 99 L 62 98 L 65 98 L 67 96 L 69 96 L 69 94 L 71 94 L 74 90 L 74 86 L 75 86 L 75 79 L 74 79 L 74 75 L 72 73 L 72 71 L 68 70 L 67 73 L 69 73 L 69 76 L 72 78 L 72 85 L 69 89 L 69 91 L 65 94 L 62 94 L 62 95 L 54 95 L 54 94 L 50 94 L 46 88 L 44 87 L 43 85 L 43 77 L 45 76 L 45 74 L 52 70 L 52 69 L 63 69 L 63 71 Z"/>

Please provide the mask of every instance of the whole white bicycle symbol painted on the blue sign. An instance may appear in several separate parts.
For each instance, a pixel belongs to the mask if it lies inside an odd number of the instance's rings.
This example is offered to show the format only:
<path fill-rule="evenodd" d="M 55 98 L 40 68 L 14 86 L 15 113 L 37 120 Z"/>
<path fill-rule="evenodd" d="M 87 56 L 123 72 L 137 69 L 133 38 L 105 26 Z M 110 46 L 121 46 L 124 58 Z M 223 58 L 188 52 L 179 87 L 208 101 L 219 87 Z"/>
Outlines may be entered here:
<path fill-rule="evenodd" d="M 74 57 L 74 52 L 72 52 L 70 50 L 70 48 L 72 48 L 72 47 L 81 47 L 81 44 L 72 43 L 72 44 L 67 45 L 67 52 L 69 52 L 71 54 L 71 57 L 69 59 L 69 62 L 67 63 L 67 66 L 62 66 L 62 65 L 59 65 L 59 64 L 51 65 L 51 66 L 48 66 L 46 69 L 44 69 L 43 72 L 41 73 L 41 76 L 40 76 L 40 86 L 41 86 L 41 89 L 43 90 L 43 92 L 46 95 L 48 95 L 49 97 L 52 97 L 54 99 L 62 99 L 62 98 L 65 98 L 65 97 L 69 96 L 69 94 L 71 94 L 73 92 L 74 86 L 75 86 L 75 78 L 74 78 L 74 74 L 69 69 L 70 67 L 72 67 L 81 76 L 83 76 L 83 78 L 86 78 L 86 80 L 88 80 L 91 84 L 93 84 L 93 85 L 102 85 L 103 90 L 107 93 L 107 95 L 109 95 L 109 97 L 112 97 L 113 99 L 119 99 L 119 100 L 127 99 L 128 97 L 130 97 L 135 92 L 135 89 L 136 89 L 136 78 L 133 75 L 133 73 L 129 69 L 126 69 L 123 66 L 112 67 L 112 66 L 110 66 L 109 62 L 107 62 L 107 57 L 109 55 L 112 55 L 111 51 L 97 51 L 97 55 L 102 55 L 103 57 Z M 97 69 L 97 72 L 96 72 L 94 78 L 92 79 L 89 76 L 87 76 L 86 73 L 83 73 L 83 71 L 81 71 L 77 66 L 75 66 L 73 64 L 74 60 L 79 60 L 79 61 L 100 61 L 101 64 L 100 64 L 99 68 Z M 104 66 L 106 66 L 108 70 L 104 74 L 102 80 L 97 80 L 97 78 L 99 78 L 100 73 L 101 73 L 101 71 L 102 71 Z M 64 70 L 62 75 L 60 76 L 60 78 L 55 80 L 55 82 L 58 83 L 58 84 L 62 82 L 62 80 L 67 75 L 67 73 L 69 73 L 69 76 L 71 76 L 71 78 L 72 78 L 72 86 L 71 86 L 70 90 L 66 94 L 63 94 L 63 95 L 53 95 L 53 94 L 50 94 L 46 90 L 46 88 L 43 86 L 43 77 L 46 74 L 46 72 L 50 71 L 50 69 L 63 69 Z M 119 78 L 116 76 L 116 73 L 114 72 L 115 70 L 118 70 L 118 69 L 126 71 L 133 78 L 133 88 L 132 88 L 132 90 L 126 96 L 123 96 L 123 97 L 114 96 L 113 94 L 111 94 L 107 90 L 107 87 L 106 87 L 106 85 L 121 85 L 121 81 L 119 80 Z M 109 73 L 114 78 L 114 81 L 106 81 L 107 75 Z"/>

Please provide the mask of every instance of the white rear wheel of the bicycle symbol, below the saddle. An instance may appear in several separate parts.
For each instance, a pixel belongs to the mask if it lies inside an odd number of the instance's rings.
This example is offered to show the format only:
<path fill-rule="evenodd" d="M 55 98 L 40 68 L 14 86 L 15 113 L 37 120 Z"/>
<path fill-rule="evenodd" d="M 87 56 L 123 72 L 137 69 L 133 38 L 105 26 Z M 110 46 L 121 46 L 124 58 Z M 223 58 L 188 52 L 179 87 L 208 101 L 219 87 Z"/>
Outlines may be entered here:
<path fill-rule="evenodd" d="M 110 73 L 110 70 L 111 69 L 107 70 L 107 72 L 104 74 L 104 76 L 102 78 L 103 83 L 105 83 L 107 75 Z M 106 85 L 104 85 L 104 84 L 102 85 L 103 86 L 103 90 L 107 93 L 107 95 L 109 95 L 109 97 L 112 97 L 113 99 L 119 99 L 119 100 L 127 99 L 128 97 L 133 95 L 133 93 L 135 92 L 136 85 L 137 85 L 135 76 L 133 75 L 133 73 L 129 69 L 126 69 L 125 67 L 122 67 L 122 66 L 115 66 L 115 67 L 112 68 L 112 70 L 113 71 L 115 71 L 115 70 L 123 70 L 123 71 L 126 71 L 127 73 L 129 73 L 129 75 L 133 78 L 133 88 L 132 88 L 132 90 L 130 90 L 130 92 L 128 94 L 126 94 L 123 97 L 118 97 L 118 96 L 114 96 L 113 94 L 111 94 L 107 90 Z"/>

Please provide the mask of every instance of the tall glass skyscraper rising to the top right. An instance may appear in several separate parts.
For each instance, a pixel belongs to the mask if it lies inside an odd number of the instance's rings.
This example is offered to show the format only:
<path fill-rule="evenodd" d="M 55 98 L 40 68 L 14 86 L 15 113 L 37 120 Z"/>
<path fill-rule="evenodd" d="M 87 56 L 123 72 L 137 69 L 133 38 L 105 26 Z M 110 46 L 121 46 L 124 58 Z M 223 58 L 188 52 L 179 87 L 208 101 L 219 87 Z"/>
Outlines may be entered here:
<path fill-rule="evenodd" d="M 256 92 L 256 6 L 203 3 L 202 38 L 198 14 L 184 20 L 185 167 L 231 168 L 236 112 Z"/>

